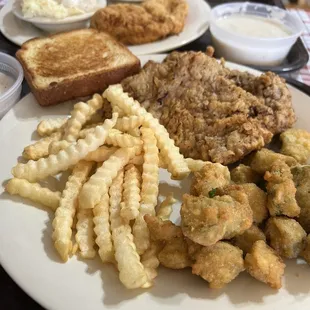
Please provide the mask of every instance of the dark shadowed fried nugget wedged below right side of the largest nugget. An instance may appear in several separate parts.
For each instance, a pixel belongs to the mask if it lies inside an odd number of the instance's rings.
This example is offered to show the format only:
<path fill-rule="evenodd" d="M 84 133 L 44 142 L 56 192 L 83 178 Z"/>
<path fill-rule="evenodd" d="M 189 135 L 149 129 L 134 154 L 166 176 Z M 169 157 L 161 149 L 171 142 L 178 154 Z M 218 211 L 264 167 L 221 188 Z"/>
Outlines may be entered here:
<path fill-rule="evenodd" d="M 261 229 L 256 225 L 252 225 L 242 235 L 236 236 L 233 243 L 246 254 L 251 251 L 253 244 L 257 240 L 266 241 L 266 237 Z"/>

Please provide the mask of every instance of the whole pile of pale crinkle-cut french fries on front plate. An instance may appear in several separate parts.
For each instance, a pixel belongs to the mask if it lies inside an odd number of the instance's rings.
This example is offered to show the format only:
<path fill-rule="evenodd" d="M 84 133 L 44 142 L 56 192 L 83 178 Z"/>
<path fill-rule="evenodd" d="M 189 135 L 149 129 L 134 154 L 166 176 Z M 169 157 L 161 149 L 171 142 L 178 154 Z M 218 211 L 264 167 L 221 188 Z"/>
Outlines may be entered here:
<path fill-rule="evenodd" d="M 112 118 L 98 119 L 106 100 Z M 156 214 L 159 168 L 183 179 L 205 162 L 184 159 L 166 129 L 121 85 L 75 104 L 68 119 L 41 121 L 37 132 L 42 139 L 24 149 L 29 161 L 12 169 L 7 192 L 55 212 L 52 238 L 64 262 L 98 252 L 103 263 L 116 264 L 127 288 L 150 287 L 159 262 L 144 216 Z M 71 175 L 62 193 L 40 185 L 66 170 Z M 168 219 L 174 203 L 169 195 L 157 216 Z"/>

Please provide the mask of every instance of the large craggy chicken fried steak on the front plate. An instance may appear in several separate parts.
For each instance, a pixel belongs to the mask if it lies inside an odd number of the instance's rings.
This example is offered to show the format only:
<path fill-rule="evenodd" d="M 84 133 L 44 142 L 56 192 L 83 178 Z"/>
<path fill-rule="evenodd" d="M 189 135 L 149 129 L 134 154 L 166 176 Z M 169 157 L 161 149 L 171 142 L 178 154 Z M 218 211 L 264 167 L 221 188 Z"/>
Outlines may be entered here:
<path fill-rule="evenodd" d="M 279 76 L 229 70 L 202 52 L 149 61 L 122 86 L 160 120 L 185 157 L 233 163 L 295 122 Z"/>

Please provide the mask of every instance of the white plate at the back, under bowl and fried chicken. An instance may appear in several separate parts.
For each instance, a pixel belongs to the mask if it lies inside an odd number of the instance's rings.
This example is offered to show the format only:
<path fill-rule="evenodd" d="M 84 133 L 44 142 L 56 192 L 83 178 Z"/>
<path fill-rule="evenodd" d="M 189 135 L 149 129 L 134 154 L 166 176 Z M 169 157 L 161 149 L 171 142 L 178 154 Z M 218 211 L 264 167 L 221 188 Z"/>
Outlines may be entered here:
<path fill-rule="evenodd" d="M 130 46 L 135 55 L 162 53 L 188 44 L 203 35 L 210 21 L 210 6 L 204 0 L 188 0 L 189 14 L 184 30 L 175 36 L 148 44 Z M 21 21 L 12 13 L 12 3 L 6 4 L 0 11 L 0 30 L 2 34 L 17 45 L 34 37 L 45 35 L 31 23 Z"/>

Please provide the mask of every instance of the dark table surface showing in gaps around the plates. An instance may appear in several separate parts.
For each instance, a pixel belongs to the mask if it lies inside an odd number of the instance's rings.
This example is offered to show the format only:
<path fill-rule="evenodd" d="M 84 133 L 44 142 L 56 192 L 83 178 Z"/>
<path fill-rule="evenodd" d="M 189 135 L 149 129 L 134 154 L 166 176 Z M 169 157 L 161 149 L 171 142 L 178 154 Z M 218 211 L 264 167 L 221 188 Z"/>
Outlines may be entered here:
<path fill-rule="evenodd" d="M 1 0 L 0 0 L 1 1 Z M 279 0 L 277 0 L 279 1 Z M 216 0 L 208 1 L 211 6 L 215 3 L 221 2 Z M 213 3 L 212 3 L 213 2 Z M 179 48 L 178 50 L 205 50 L 210 44 L 211 38 L 209 32 L 206 32 L 202 37 L 196 41 Z M 0 51 L 15 55 L 18 46 L 8 41 L 0 33 Z M 22 96 L 29 93 L 29 87 L 26 82 L 23 83 Z M 21 310 L 30 308 L 31 310 L 42 310 L 39 304 L 32 300 L 26 293 L 24 293 L 18 285 L 9 277 L 5 270 L 0 266 L 0 292 L 1 292 L 1 309 L 5 310 Z"/>

